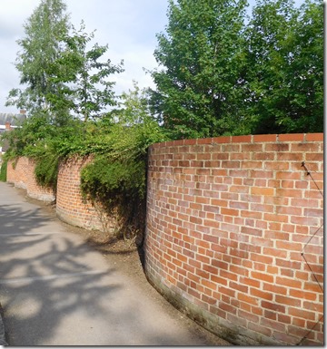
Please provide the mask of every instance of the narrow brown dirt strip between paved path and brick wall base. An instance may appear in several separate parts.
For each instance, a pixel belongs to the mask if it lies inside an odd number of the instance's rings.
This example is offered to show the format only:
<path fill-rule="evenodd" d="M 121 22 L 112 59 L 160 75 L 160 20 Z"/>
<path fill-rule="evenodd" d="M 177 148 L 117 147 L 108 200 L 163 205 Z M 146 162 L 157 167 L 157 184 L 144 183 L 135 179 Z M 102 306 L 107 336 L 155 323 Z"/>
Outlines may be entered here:
<path fill-rule="evenodd" d="M 27 201 L 45 209 L 50 216 L 56 218 L 54 204 L 48 204 L 43 201 L 28 198 L 24 189 L 18 190 Z M 202 338 L 203 342 L 207 345 L 233 345 L 223 340 L 223 338 L 205 330 L 201 325 L 196 324 L 193 320 L 171 305 L 154 289 L 153 286 L 150 285 L 144 275 L 144 269 L 141 262 L 142 251 L 140 251 L 140 248 L 136 247 L 134 239 L 117 239 L 112 236 L 106 236 L 100 231 L 86 230 L 84 228 L 78 228 L 66 224 L 59 219 L 58 221 L 64 225 L 64 228 L 67 231 L 83 237 L 86 243 L 102 253 L 102 255 L 108 260 L 108 263 L 114 265 L 117 270 L 122 272 L 125 276 L 128 276 L 134 285 L 140 287 L 143 290 L 144 295 L 151 298 L 158 305 L 161 305 L 166 314 L 171 315 L 174 318 L 179 318 L 182 327 L 189 328 L 191 333 Z"/>

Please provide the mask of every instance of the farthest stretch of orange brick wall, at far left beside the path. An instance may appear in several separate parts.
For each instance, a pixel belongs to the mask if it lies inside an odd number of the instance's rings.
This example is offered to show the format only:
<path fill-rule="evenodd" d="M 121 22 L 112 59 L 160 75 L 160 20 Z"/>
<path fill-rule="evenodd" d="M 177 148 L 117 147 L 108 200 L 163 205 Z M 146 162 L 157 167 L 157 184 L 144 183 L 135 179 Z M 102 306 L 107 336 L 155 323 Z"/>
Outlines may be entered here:
<path fill-rule="evenodd" d="M 53 202 L 54 190 L 42 187 L 35 179 L 35 160 L 26 157 L 10 160 L 7 164 L 7 182 L 26 189 L 29 198 Z"/>

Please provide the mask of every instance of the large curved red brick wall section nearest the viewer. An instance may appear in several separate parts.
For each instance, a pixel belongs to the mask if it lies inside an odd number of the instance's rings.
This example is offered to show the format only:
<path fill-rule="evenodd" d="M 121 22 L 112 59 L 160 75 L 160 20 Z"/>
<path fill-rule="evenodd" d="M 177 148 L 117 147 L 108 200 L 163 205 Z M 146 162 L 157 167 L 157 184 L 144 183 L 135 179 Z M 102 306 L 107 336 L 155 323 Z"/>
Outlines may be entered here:
<path fill-rule="evenodd" d="M 321 133 L 154 144 L 149 281 L 235 344 L 322 344 L 322 149 Z"/>

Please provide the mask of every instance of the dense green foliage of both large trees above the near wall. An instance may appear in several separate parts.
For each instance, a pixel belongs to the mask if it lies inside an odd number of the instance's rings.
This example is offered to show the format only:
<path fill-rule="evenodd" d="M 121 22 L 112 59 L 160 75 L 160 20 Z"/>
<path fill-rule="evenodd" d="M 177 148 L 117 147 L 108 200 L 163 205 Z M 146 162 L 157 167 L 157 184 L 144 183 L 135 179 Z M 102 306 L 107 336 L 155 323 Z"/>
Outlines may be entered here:
<path fill-rule="evenodd" d="M 322 132 L 323 6 L 171 0 L 152 112 L 174 139 Z"/>

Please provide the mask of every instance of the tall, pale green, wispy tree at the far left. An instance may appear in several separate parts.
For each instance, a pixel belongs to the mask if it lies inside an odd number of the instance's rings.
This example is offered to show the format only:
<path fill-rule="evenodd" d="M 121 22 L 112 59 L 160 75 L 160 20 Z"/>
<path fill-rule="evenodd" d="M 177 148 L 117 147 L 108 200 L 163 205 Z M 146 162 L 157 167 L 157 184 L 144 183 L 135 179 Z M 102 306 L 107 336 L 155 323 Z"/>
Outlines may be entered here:
<path fill-rule="evenodd" d="M 49 107 L 46 95 L 54 92 L 57 84 L 50 80 L 47 69 L 63 50 L 61 38 L 70 27 L 65 10 L 62 0 L 42 0 L 26 21 L 25 38 L 17 41 L 22 50 L 15 63 L 20 83 L 26 87 L 11 90 L 6 105 L 25 108 L 30 115 Z"/>

